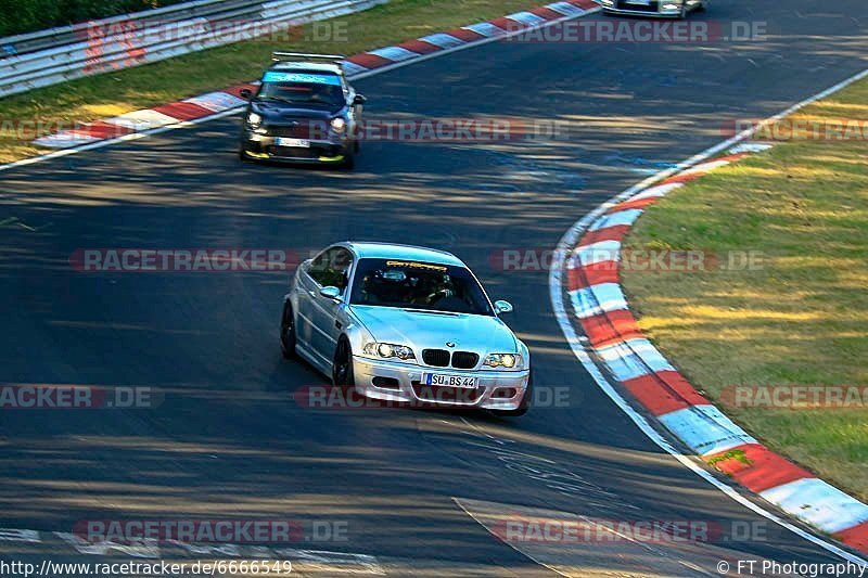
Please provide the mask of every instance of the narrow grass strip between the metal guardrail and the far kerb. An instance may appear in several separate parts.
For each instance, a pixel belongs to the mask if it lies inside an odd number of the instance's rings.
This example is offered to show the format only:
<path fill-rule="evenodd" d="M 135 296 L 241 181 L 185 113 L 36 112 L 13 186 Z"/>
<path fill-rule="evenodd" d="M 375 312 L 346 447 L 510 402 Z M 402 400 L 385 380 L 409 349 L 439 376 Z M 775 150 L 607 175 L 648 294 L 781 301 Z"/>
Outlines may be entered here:
<path fill-rule="evenodd" d="M 342 16 L 331 41 L 312 38 L 310 25 L 292 42 L 242 42 L 113 74 L 93 76 L 0 99 L 0 119 L 84 123 L 145 108 L 258 78 L 275 50 L 356 54 L 465 24 L 541 5 L 539 0 L 391 0 Z M 321 24 L 320 24 L 321 26 Z M 0 163 L 46 152 L 11 130 L 0 130 Z"/>

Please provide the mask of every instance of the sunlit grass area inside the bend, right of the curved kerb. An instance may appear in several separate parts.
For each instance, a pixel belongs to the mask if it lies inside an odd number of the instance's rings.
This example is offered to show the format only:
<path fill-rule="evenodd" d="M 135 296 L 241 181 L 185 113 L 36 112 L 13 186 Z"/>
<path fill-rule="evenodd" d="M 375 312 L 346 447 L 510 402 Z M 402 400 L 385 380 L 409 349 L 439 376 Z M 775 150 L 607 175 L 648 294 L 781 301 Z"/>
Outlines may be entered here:
<path fill-rule="evenodd" d="M 868 126 L 868 82 L 796 116 L 842 118 Z M 868 385 L 866 140 L 779 143 L 671 193 L 626 239 L 627 251 L 653 247 L 765 254 L 751 271 L 626 271 L 624 286 L 694 387 L 774 450 L 868 499 L 868 409 L 720 400 L 733 385 Z"/>

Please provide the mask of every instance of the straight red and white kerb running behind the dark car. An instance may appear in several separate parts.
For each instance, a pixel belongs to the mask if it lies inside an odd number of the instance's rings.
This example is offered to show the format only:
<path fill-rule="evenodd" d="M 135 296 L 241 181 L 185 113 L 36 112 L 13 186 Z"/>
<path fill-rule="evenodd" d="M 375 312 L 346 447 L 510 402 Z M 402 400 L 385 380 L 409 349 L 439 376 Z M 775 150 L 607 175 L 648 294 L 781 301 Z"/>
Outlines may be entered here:
<path fill-rule="evenodd" d="M 349 79 L 363 78 L 374 74 L 374 72 L 383 72 L 385 68 L 394 68 L 435 55 L 507 38 L 549 24 L 577 18 L 599 10 L 599 5 L 593 0 L 554 2 L 501 16 L 489 22 L 481 22 L 416 40 L 408 40 L 398 46 L 362 52 L 347 57 L 344 67 Z M 245 88 L 253 89 L 254 85 L 239 85 L 192 99 L 89 123 L 73 130 L 41 137 L 35 140 L 34 144 L 51 149 L 73 149 L 106 140 L 127 140 L 131 134 L 157 129 L 179 128 L 193 121 L 231 114 L 241 110 L 246 104 L 240 95 L 241 90 Z"/>

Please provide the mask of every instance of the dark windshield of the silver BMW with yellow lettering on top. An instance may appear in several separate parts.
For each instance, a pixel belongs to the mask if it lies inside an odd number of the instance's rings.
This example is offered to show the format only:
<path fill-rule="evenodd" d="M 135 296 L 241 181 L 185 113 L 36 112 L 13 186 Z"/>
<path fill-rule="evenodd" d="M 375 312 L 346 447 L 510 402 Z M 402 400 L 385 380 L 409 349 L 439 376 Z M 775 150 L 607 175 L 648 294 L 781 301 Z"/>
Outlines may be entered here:
<path fill-rule="evenodd" d="M 478 282 L 465 268 L 401 259 L 360 259 L 350 303 L 494 314 Z"/>

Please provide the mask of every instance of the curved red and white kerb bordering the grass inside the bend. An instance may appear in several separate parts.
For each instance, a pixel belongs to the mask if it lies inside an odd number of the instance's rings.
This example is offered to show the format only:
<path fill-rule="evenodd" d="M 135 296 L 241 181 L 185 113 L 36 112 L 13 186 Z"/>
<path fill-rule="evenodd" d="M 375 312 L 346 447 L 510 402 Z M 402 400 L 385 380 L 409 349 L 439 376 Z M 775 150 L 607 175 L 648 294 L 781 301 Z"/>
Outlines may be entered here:
<path fill-rule="evenodd" d="M 646 207 L 687 182 L 768 149 L 743 144 L 622 200 L 564 256 L 573 325 L 633 397 L 705 462 L 784 512 L 868 552 L 868 505 L 771 452 L 699 394 L 639 330 L 618 281 L 621 244 Z"/>

